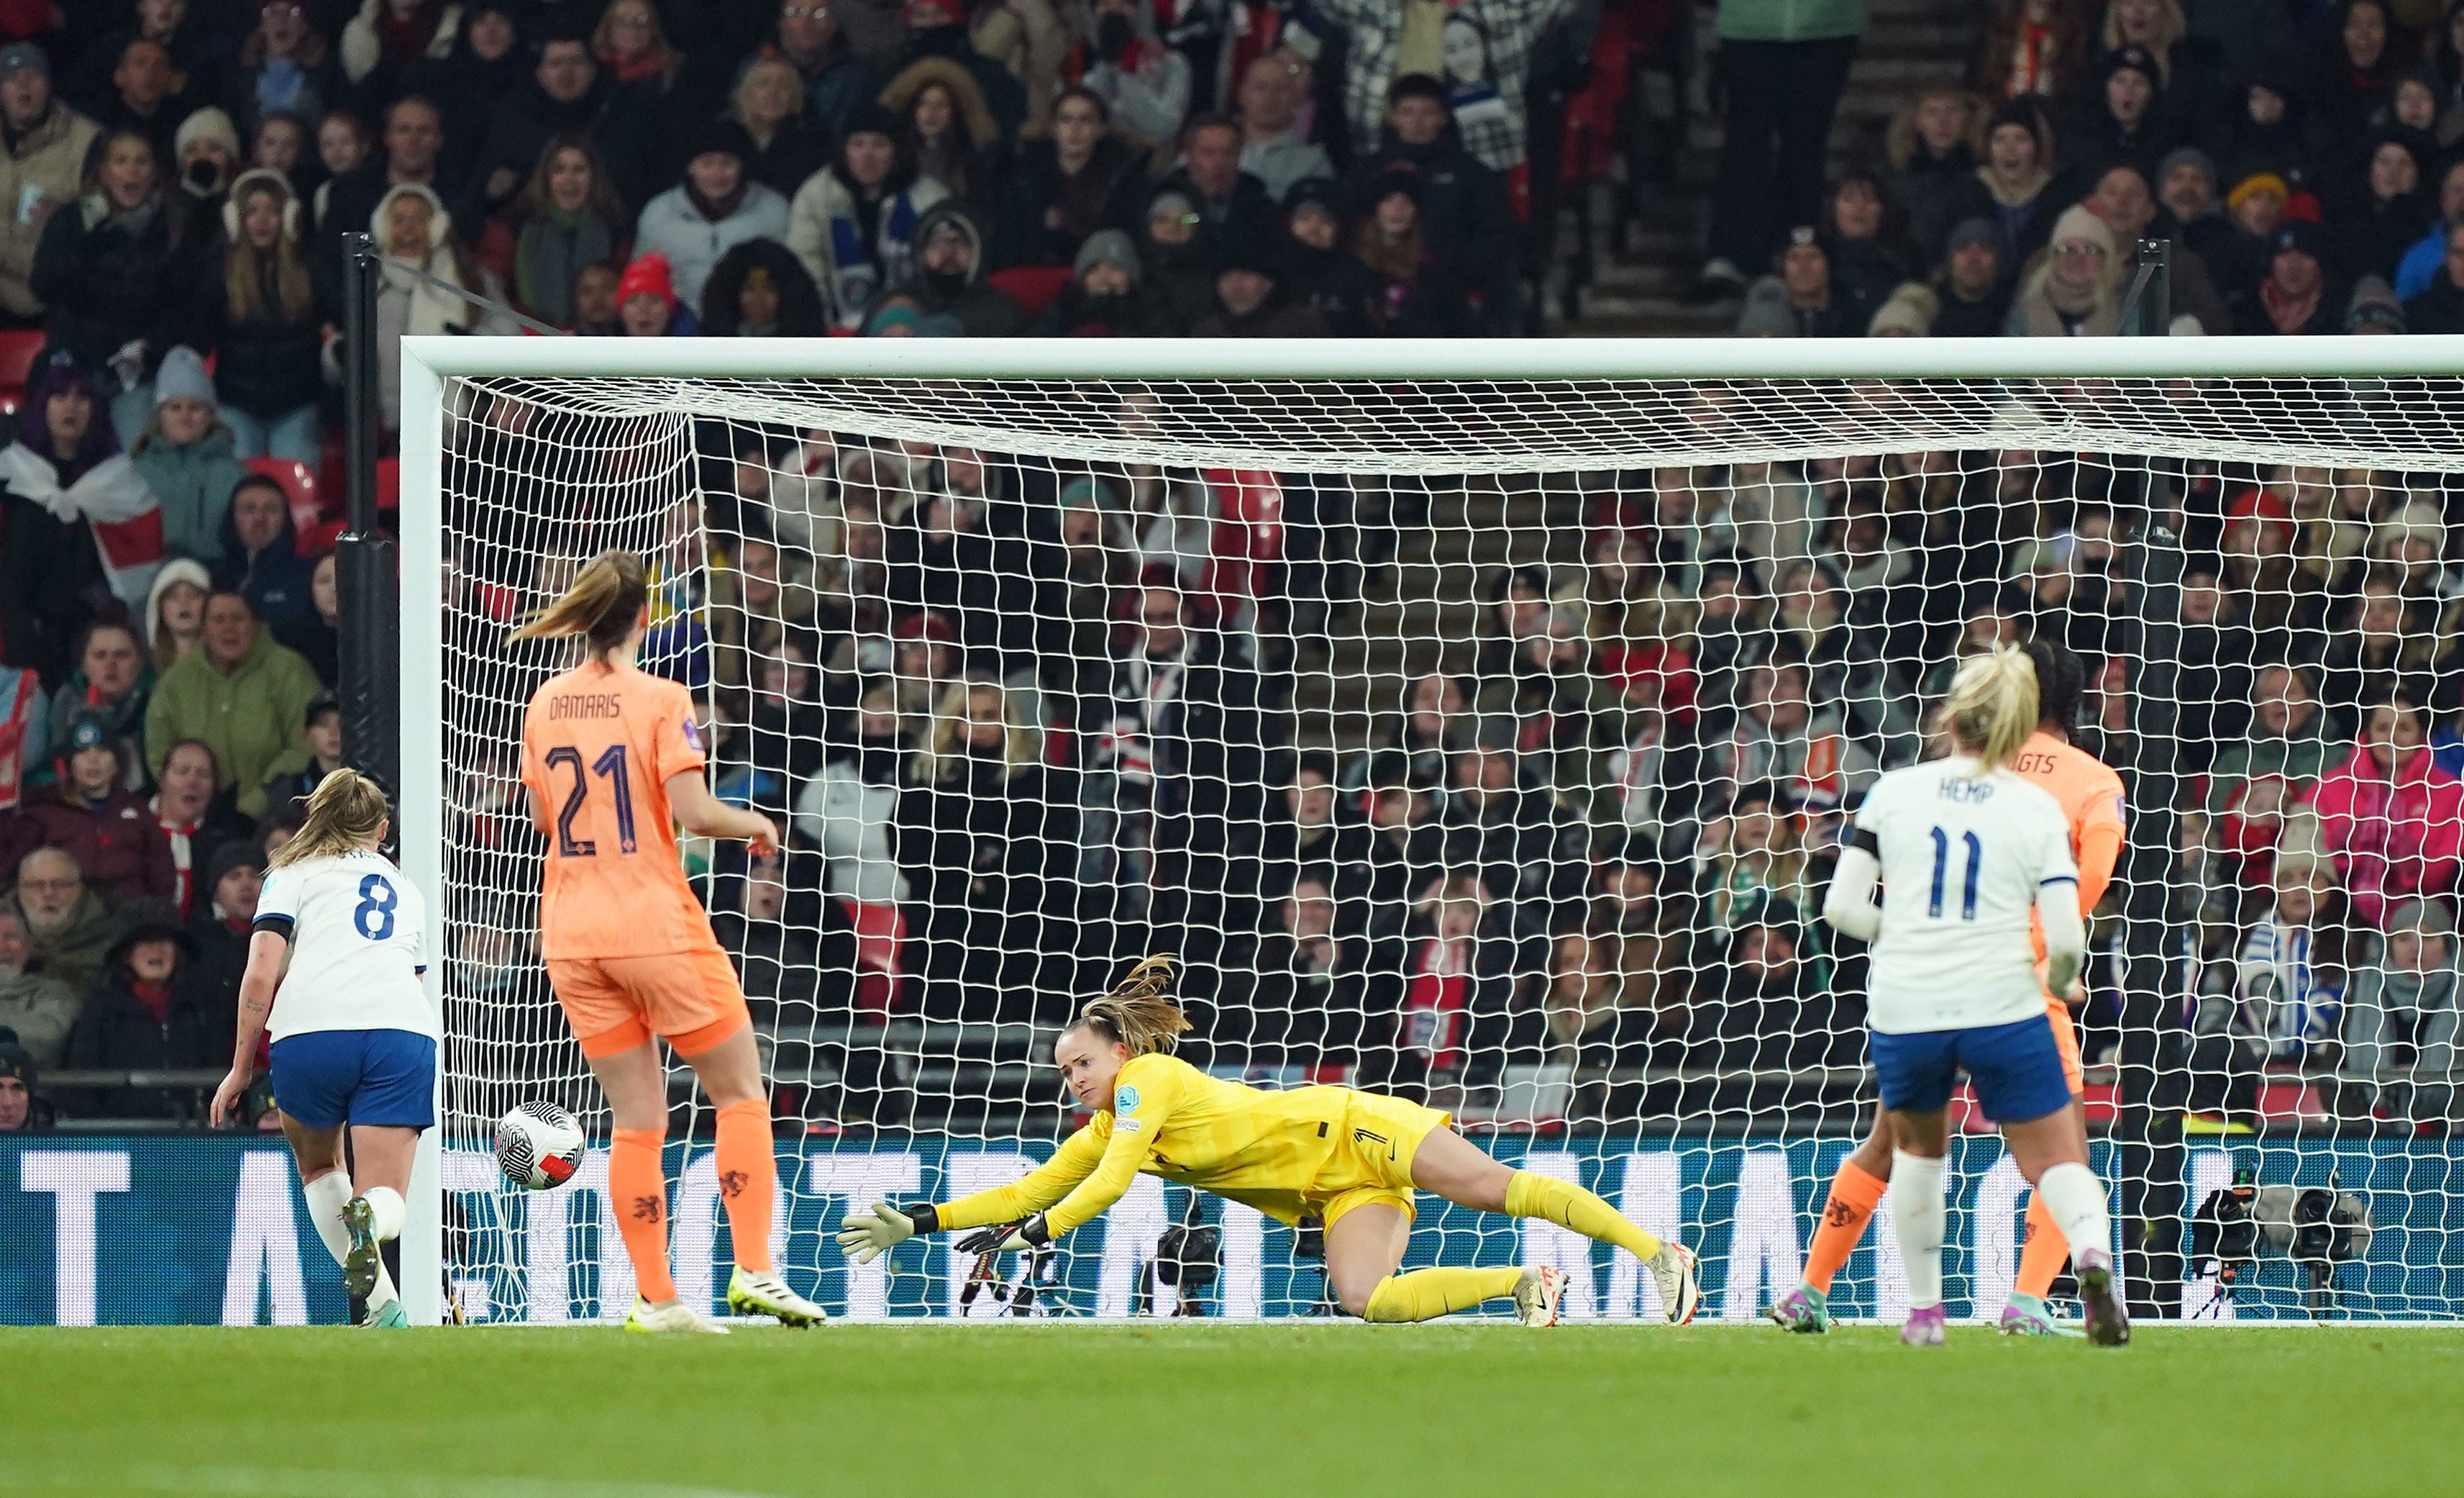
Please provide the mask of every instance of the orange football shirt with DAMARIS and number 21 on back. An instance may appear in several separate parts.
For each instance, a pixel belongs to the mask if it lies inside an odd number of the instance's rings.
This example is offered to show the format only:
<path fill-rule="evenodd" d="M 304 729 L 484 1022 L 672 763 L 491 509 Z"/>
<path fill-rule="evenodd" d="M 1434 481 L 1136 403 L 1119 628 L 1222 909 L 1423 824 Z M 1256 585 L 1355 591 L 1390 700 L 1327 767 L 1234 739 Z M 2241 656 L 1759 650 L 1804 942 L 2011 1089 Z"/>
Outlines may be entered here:
<path fill-rule="evenodd" d="M 668 779 L 705 764 L 678 682 L 594 660 L 532 692 L 522 783 L 547 825 L 540 956 L 719 951 L 668 811 Z"/>

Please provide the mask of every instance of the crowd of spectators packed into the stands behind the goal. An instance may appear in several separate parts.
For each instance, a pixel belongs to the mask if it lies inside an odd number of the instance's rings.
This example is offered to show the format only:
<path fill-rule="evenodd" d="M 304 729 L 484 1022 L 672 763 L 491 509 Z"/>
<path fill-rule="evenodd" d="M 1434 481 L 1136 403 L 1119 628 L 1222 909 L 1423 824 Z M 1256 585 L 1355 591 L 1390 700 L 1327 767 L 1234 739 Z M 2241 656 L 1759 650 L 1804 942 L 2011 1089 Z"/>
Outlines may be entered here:
<path fill-rule="evenodd" d="M 1634 84 L 1688 67 L 1688 20 L 0 2 L 0 323 L 39 347 L 0 448 L 0 1126 L 190 1116 L 39 1074 L 229 1050 L 264 857 L 342 751 L 342 234 L 384 254 L 384 342 L 515 330 L 490 303 L 633 338 L 1515 333 L 1557 207 L 1648 170 Z M 1717 5 L 1700 291 L 1742 296 L 1745 333 L 2112 333 L 2151 237 L 2176 333 L 2457 328 L 2464 2 L 2008 0 L 1969 86 L 1831 175 L 1863 27 L 1858 0 Z M 473 411 L 458 458 L 493 478 L 448 493 L 522 515 L 537 421 Z M 811 1116 L 897 1121 L 914 1057 L 867 1027 L 1050 1020 L 1151 949 L 1190 958 L 1193 1050 L 1247 1072 L 1538 1074 L 1599 1111 L 1651 1077 L 1853 1069 L 1860 953 L 1809 919 L 1846 813 L 1984 641 L 2060 638 L 2085 739 L 2129 761 L 2144 594 L 2117 559 L 2173 508 L 2193 1101 L 2252 1114 L 2274 1072 L 2348 1119 L 2464 1109 L 2442 480 L 2131 488 L 2060 453 L 1594 476 L 1582 554 L 1488 579 L 1476 638 L 1333 754 L 1299 747 L 1326 734 L 1296 680 L 1360 628 L 1363 574 L 1427 545 L 1437 485 L 700 439 L 715 567 L 668 559 L 655 655 L 707 687 L 722 786 L 791 833 L 707 889 Z M 468 618 L 574 562 L 463 530 Z M 453 840 L 515 855 L 483 759 Z M 451 926 L 458 1000 L 537 1005 L 513 909 Z M 2117 1020 L 2107 958 L 2092 1055 Z"/>

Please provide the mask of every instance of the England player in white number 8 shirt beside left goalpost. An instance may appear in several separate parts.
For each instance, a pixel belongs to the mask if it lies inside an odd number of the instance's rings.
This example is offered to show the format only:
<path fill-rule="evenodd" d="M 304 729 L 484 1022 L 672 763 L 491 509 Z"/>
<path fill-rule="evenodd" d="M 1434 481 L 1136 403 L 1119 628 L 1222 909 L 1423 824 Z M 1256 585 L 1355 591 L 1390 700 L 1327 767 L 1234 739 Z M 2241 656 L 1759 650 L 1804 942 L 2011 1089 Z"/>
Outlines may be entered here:
<path fill-rule="evenodd" d="M 439 1025 L 419 983 L 426 902 L 377 852 L 387 820 L 384 791 L 350 769 L 308 796 L 308 823 L 274 855 L 256 897 L 239 1040 L 212 1111 L 217 1126 L 232 1116 L 271 1020 L 283 1138 L 318 1237 L 367 1301 L 362 1326 L 407 1326 L 384 1242 L 402 1234 L 411 1153 L 436 1124 Z M 345 1126 L 357 1190 L 342 1173 Z"/>

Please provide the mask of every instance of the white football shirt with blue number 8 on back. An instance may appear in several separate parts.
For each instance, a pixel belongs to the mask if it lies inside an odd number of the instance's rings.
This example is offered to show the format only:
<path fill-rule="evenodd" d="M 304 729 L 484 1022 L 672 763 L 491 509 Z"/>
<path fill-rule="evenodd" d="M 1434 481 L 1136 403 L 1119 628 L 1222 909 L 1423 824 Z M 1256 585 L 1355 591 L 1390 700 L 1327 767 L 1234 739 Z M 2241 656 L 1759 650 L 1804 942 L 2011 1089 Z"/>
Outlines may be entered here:
<path fill-rule="evenodd" d="M 444 1040 L 419 971 L 429 907 L 382 852 L 308 857 L 266 875 L 256 929 L 291 939 L 274 1040 L 313 1030 L 411 1030 Z"/>

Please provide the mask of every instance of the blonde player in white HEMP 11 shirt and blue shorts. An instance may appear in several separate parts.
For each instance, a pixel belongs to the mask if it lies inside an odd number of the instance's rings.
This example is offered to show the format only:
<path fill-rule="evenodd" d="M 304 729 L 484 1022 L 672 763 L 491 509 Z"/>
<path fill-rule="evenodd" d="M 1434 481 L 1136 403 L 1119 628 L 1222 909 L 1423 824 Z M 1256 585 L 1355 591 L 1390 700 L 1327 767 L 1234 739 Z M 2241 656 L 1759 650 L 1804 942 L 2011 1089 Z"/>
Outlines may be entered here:
<path fill-rule="evenodd" d="M 2001 1124 L 2020 1175 L 2070 1239 L 2087 1338 L 2117 1348 L 2131 1328 L 2114 1284 L 2104 1183 L 2070 1121 L 2070 1082 L 2028 939 L 2033 909 L 2045 926 L 2045 988 L 2067 993 L 2087 956 L 2070 820 L 2008 769 L 2035 732 L 2035 665 L 2011 646 L 1969 658 L 1944 717 L 1951 756 L 1873 786 L 1823 902 L 1823 919 L 1873 941 L 1865 1025 L 1897 1141 L 1890 1200 L 1912 1306 L 1900 1340 L 1942 1345 L 1944 1335 L 1947 1119 L 1966 1072 L 1976 1104 Z"/>

